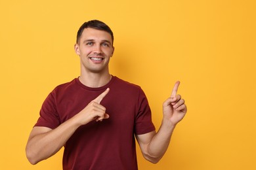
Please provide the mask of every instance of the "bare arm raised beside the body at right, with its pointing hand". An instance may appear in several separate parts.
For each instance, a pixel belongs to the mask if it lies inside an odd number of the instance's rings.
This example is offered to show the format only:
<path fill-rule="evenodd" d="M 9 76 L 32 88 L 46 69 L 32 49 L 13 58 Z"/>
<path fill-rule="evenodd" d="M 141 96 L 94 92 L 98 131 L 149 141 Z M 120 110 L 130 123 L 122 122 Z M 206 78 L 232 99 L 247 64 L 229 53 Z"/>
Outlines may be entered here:
<path fill-rule="evenodd" d="M 171 97 L 163 103 L 163 120 L 158 133 L 152 131 L 143 135 L 136 135 L 144 158 L 157 163 L 165 154 L 175 126 L 184 118 L 186 105 L 181 95 L 177 95 L 179 82 L 175 84 Z"/>

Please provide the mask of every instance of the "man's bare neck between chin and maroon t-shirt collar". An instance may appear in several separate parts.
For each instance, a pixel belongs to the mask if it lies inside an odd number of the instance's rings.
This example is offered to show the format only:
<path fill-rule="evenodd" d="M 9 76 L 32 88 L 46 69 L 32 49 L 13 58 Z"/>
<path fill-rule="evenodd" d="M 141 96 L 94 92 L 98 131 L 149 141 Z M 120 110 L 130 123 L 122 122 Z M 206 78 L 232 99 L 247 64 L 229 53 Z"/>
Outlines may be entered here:
<path fill-rule="evenodd" d="M 110 82 L 112 75 L 110 73 L 89 73 L 89 74 L 81 74 L 79 76 L 79 80 L 82 84 L 90 88 L 99 88 L 102 87 L 108 82 Z"/>

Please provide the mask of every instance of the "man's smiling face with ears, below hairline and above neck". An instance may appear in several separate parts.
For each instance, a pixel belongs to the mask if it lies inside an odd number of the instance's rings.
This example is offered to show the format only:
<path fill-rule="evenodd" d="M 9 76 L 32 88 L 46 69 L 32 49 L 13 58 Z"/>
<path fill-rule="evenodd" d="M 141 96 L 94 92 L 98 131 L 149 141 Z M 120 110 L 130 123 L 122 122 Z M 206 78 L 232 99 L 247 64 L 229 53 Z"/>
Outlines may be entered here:
<path fill-rule="evenodd" d="M 108 71 L 108 63 L 114 53 L 110 33 L 86 28 L 75 44 L 75 53 L 80 56 L 81 71 L 103 73 Z"/>

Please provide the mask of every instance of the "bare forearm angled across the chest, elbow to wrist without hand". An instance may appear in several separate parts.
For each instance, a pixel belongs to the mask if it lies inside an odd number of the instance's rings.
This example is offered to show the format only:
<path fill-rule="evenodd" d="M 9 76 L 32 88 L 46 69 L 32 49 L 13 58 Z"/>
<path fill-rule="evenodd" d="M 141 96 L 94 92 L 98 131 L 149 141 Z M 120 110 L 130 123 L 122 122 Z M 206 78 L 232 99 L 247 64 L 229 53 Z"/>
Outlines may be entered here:
<path fill-rule="evenodd" d="M 38 135 L 32 134 L 26 146 L 26 154 L 30 163 L 36 164 L 53 156 L 70 139 L 77 127 L 79 127 L 79 124 L 73 117 L 56 127 L 56 129 L 51 129 Z"/>

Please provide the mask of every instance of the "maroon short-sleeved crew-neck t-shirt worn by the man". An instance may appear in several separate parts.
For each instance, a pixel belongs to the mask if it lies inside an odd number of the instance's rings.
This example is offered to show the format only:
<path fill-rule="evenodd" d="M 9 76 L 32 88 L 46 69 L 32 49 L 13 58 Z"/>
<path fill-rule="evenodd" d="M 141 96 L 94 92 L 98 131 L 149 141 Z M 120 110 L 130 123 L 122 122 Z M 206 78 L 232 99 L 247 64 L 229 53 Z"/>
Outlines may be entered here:
<path fill-rule="evenodd" d="M 154 131 L 146 95 L 135 84 L 113 76 L 100 88 L 75 78 L 57 86 L 45 99 L 35 126 L 54 129 L 84 109 L 106 88 L 102 99 L 110 118 L 79 127 L 64 146 L 63 169 L 138 169 L 134 134 Z"/>

